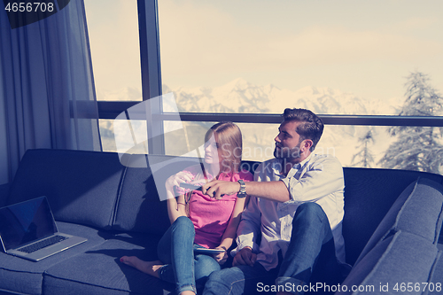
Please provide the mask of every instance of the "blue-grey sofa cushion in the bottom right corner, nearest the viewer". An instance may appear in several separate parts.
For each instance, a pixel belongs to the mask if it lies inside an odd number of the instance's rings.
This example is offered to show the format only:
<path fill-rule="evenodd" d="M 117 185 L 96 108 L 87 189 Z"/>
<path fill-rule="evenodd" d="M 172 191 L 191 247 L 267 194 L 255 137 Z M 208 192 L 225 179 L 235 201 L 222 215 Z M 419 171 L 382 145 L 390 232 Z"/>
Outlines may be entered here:
<path fill-rule="evenodd" d="M 386 291 L 380 288 L 386 285 L 389 293 L 405 293 L 400 291 L 400 283 L 413 285 L 419 283 L 422 286 L 422 283 L 430 279 L 431 270 L 438 259 L 439 252 L 436 245 L 424 237 L 400 230 L 392 236 L 385 237 L 371 249 L 354 266 L 336 294 L 351 292 L 353 286 L 361 288 L 353 294 L 385 293 Z M 396 284 L 399 291 L 393 289 Z"/>

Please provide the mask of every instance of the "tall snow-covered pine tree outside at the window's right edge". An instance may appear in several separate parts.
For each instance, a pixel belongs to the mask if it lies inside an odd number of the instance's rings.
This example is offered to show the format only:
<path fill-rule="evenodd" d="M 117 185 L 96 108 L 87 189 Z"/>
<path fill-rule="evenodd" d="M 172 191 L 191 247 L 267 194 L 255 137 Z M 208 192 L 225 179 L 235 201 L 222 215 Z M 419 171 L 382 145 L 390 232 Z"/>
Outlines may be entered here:
<path fill-rule="evenodd" d="M 437 116 L 440 114 L 443 97 L 431 87 L 426 74 L 415 72 L 408 76 L 406 100 L 400 116 Z M 441 143 L 443 128 L 394 126 L 388 128 L 397 141 L 391 144 L 380 159 L 385 168 L 417 170 L 439 173 L 443 160 Z"/>

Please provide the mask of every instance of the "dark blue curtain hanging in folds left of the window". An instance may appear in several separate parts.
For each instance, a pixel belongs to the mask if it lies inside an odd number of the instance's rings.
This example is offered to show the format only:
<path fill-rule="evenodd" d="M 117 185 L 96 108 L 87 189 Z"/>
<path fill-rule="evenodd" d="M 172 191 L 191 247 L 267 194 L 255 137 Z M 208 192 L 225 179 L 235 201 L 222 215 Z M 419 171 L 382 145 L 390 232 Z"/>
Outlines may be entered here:
<path fill-rule="evenodd" d="M 27 149 L 102 151 L 83 0 L 14 29 L 1 11 L 0 184 Z"/>

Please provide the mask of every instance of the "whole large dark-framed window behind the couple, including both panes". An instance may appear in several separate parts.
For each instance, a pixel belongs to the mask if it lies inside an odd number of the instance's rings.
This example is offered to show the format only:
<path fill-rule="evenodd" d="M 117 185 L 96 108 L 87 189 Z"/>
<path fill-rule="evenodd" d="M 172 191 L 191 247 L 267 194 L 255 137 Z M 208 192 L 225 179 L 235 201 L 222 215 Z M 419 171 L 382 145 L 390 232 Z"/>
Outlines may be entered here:
<path fill-rule="evenodd" d="M 85 0 L 87 11 L 91 2 Z M 268 159 L 278 115 L 285 107 L 304 107 L 322 116 L 327 124 L 317 152 L 336 155 L 344 166 L 428 171 L 415 163 L 431 163 L 428 159 L 438 160 L 443 155 L 439 128 L 443 126 L 439 94 L 443 90 L 443 32 L 439 30 L 443 4 L 439 0 L 321 4 L 113 0 L 106 1 L 106 6 L 119 8 L 123 3 L 132 8 L 130 13 L 129 8 L 124 10 L 128 12 L 124 17 L 120 12 L 116 16 L 128 20 L 127 24 L 120 21 L 118 31 L 132 24 L 126 28 L 125 38 L 140 32 L 140 43 L 133 38 L 135 41 L 125 43 L 122 51 L 117 43 L 123 39 L 114 37 L 94 53 L 92 39 L 97 35 L 89 28 L 97 88 L 100 79 L 108 83 L 107 90 L 97 89 L 97 97 L 118 93 L 112 89 L 124 81 L 126 86 L 119 89 L 140 89 L 131 85 L 142 81 L 143 99 L 159 93 L 160 89 L 155 89 L 159 85 L 164 94 L 174 93 L 184 120 L 183 132 L 167 134 L 158 146 L 150 144 L 151 152 L 183 154 L 201 144 L 214 121 L 233 120 L 244 134 L 244 158 Z M 90 19 L 93 16 L 90 14 Z M 111 20 L 100 21 L 115 22 L 109 15 L 107 19 Z M 88 21 L 89 26 L 94 25 L 89 15 Z M 113 46 L 123 59 L 132 52 L 128 59 L 128 63 L 136 60 L 132 74 L 126 65 L 115 66 L 119 73 L 111 74 L 114 59 L 119 58 L 107 58 L 110 53 L 105 51 Z M 141 62 L 136 59 L 140 55 Z M 95 61 L 100 58 L 103 62 Z M 102 74 L 106 78 L 98 78 L 96 67 L 100 64 L 105 65 L 106 73 Z M 142 79 L 140 68 L 135 70 L 140 64 Z M 111 82 L 121 75 L 127 76 Z M 137 77 L 126 79 L 133 75 Z M 410 88 L 418 84 L 421 86 L 416 90 Z M 107 122 L 102 134 L 110 139 L 113 119 L 142 96 L 117 99 L 134 101 L 126 105 L 110 102 L 113 96 L 102 97 L 100 117 Z M 174 124 L 170 116 L 162 114 L 162 105 L 156 108 L 156 114 L 148 119 L 155 117 L 161 126 L 148 120 L 143 125 L 148 133 L 150 128 L 167 129 Z M 401 166 L 399 161 L 412 164 Z M 431 172 L 441 173 L 439 164 L 433 165 Z"/>

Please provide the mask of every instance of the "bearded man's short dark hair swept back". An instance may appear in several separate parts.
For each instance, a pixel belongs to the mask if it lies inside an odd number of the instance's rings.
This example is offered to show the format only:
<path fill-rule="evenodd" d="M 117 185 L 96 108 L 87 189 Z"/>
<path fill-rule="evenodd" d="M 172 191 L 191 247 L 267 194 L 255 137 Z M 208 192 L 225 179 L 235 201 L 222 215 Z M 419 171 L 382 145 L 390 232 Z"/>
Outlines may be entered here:
<path fill-rule="evenodd" d="M 283 113 L 284 121 L 296 120 L 301 122 L 295 130 L 300 141 L 304 139 L 312 140 L 313 144 L 309 151 L 314 151 L 320 137 L 323 134 L 323 121 L 315 113 L 305 109 L 285 109 Z"/>

